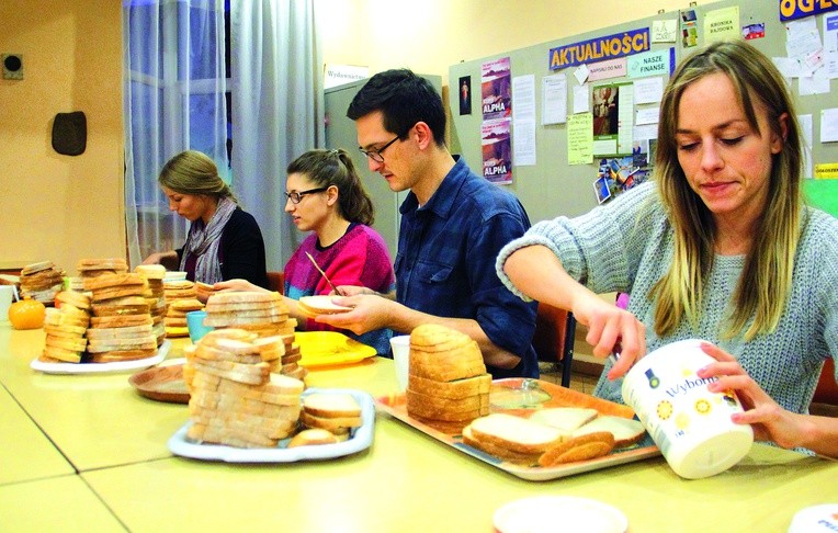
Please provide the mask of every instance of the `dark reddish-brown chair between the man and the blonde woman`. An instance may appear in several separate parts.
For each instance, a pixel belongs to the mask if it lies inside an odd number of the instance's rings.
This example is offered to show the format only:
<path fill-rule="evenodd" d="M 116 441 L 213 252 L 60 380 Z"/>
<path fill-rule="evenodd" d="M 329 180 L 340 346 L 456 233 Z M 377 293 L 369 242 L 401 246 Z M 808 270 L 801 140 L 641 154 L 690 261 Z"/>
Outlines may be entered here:
<path fill-rule="evenodd" d="M 574 361 L 576 319 L 574 314 L 539 303 L 532 345 L 539 361 L 557 363 L 562 370 L 562 386 L 570 386 L 570 366 Z"/>

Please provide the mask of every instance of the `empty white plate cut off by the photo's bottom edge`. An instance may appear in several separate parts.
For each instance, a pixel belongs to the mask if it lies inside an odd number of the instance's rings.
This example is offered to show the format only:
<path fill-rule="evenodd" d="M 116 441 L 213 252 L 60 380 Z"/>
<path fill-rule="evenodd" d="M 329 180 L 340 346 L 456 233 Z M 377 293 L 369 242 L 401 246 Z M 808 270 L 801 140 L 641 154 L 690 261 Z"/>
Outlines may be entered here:
<path fill-rule="evenodd" d="M 624 533 L 628 519 L 601 501 L 574 496 L 535 496 L 495 511 L 500 533 Z"/>

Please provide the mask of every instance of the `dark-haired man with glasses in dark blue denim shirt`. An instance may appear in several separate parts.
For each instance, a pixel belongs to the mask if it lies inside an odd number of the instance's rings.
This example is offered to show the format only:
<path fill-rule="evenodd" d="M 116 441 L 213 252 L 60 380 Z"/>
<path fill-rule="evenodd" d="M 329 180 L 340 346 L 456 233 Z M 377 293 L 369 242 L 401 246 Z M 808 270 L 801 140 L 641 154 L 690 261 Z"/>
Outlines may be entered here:
<path fill-rule="evenodd" d="M 347 115 L 370 170 L 395 192 L 410 190 L 399 207 L 396 300 L 340 287 L 351 296 L 336 302 L 353 310 L 317 320 L 355 333 L 440 324 L 477 341 L 495 378 L 537 377 L 536 304 L 509 292 L 494 269 L 500 249 L 530 227 L 521 203 L 451 155 L 442 99 L 410 70 L 373 76 Z"/>

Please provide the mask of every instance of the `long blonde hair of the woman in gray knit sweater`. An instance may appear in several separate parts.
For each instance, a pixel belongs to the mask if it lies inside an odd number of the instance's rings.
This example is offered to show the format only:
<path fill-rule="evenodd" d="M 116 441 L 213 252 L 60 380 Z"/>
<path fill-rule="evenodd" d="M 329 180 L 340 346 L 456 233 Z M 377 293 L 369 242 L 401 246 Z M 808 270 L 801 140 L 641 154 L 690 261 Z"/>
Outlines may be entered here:
<path fill-rule="evenodd" d="M 715 223 L 712 213 L 687 181 L 678 162 L 678 111 L 684 90 L 713 73 L 724 73 L 734 86 L 738 104 L 750 127 L 759 135 L 783 139 L 772 156 L 769 196 L 755 228 L 754 245 L 733 295 L 733 307 L 723 338 L 745 331 L 750 340 L 777 329 L 792 287 L 794 254 L 801 234 L 801 138 L 794 106 L 785 80 L 765 55 L 744 41 L 714 43 L 687 58 L 676 69 L 664 92 L 658 125 L 655 172 L 658 190 L 675 229 L 672 263 L 652 288 L 658 298 L 655 332 L 672 332 L 683 318 L 695 325 L 702 304 L 702 287 L 713 268 Z M 754 99 L 768 113 L 770 132 L 760 132 Z M 785 114 L 786 131 L 781 115 Z"/>

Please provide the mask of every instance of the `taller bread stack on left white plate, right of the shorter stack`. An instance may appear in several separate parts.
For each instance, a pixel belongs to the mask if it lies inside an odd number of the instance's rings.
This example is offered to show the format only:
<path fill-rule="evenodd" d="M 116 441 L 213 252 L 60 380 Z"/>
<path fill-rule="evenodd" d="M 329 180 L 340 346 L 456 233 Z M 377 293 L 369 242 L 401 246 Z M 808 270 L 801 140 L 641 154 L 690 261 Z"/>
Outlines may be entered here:
<path fill-rule="evenodd" d="M 136 273 L 105 273 L 84 279 L 93 316 L 88 352 L 94 363 L 146 359 L 157 354 L 145 280 Z"/>

